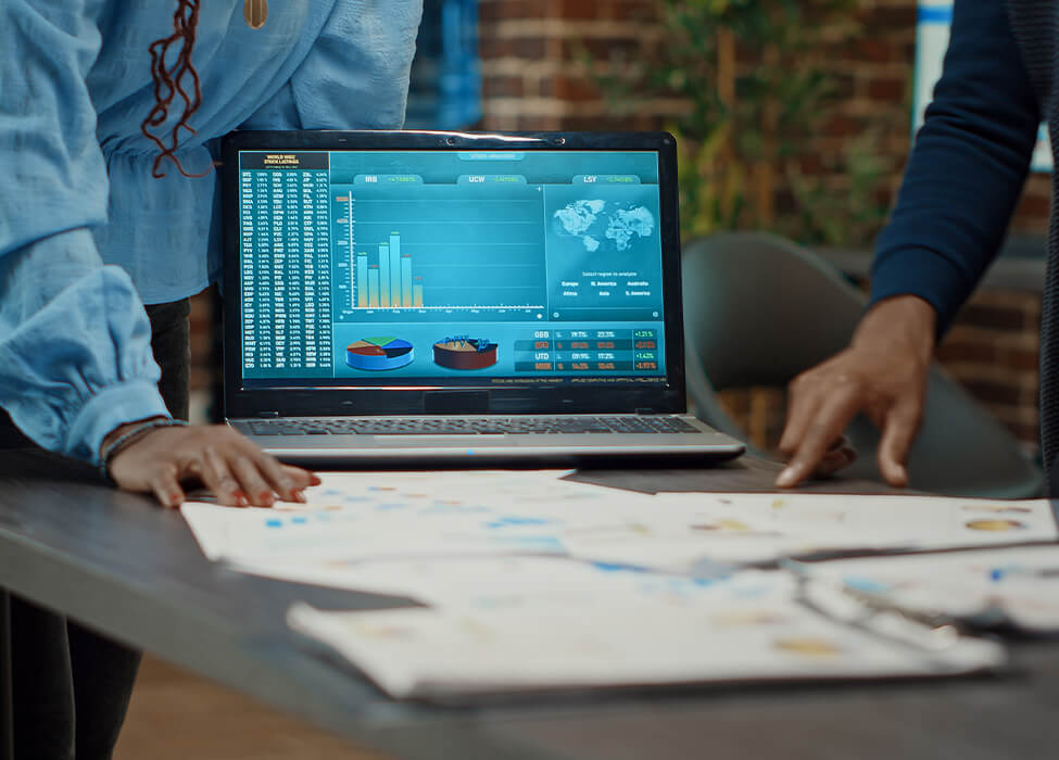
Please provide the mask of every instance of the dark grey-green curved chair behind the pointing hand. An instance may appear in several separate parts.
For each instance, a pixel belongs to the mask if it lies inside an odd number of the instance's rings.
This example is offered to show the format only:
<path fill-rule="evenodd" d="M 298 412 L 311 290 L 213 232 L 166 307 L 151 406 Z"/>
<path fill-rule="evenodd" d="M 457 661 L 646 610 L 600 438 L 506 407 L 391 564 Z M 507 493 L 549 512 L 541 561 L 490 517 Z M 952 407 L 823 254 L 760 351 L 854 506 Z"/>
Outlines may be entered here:
<path fill-rule="evenodd" d="M 705 422 L 745 440 L 715 391 L 785 387 L 847 345 L 867 300 L 818 255 L 773 235 L 701 238 L 682 258 L 689 402 Z M 881 481 L 875 427 L 858 416 L 846 435 L 859 456 L 844 472 Z M 1010 431 L 937 362 L 908 477 L 912 489 L 984 498 L 1035 497 L 1044 485 Z"/>

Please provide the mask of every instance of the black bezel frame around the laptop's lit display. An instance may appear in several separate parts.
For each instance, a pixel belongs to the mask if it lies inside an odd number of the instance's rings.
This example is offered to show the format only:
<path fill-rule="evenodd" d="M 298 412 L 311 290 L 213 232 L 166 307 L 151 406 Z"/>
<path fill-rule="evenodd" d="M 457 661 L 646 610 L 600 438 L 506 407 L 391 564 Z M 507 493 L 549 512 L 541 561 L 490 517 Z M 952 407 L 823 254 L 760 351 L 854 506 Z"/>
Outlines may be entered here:
<path fill-rule="evenodd" d="M 658 156 L 666 378 L 642 384 L 243 388 L 240 151 L 651 151 Z M 235 131 L 222 141 L 224 413 L 228 419 L 399 414 L 676 414 L 686 409 L 676 140 L 668 132 Z M 235 306 L 235 308 L 232 308 Z M 279 381 L 281 382 L 281 381 Z"/>

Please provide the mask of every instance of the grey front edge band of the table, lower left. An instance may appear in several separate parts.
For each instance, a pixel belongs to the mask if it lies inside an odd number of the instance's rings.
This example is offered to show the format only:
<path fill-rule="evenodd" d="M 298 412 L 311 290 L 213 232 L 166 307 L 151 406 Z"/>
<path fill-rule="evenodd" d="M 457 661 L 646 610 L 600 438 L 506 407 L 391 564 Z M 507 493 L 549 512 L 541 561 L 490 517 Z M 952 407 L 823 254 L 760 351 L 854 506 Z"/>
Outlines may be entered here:
<path fill-rule="evenodd" d="M 117 584 L 86 572 L 73 558 L 0 525 L 0 597 L 5 598 L 8 592 L 300 715 L 366 749 L 395 757 L 453 760 L 554 758 L 490 736 L 472 712 L 409 706 L 381 695 L 358 704 L 355 696 L 363 695 L 364 680 L 351 669 L 335 668 L 294 646 L 294 634 L 289 639 L 239 635 L 216 616 L 179 607 L 135 583 Z M 113 598 L 115 592 L 119 599 Z M 104 596 L 111 599 L 101 605 Z"/>

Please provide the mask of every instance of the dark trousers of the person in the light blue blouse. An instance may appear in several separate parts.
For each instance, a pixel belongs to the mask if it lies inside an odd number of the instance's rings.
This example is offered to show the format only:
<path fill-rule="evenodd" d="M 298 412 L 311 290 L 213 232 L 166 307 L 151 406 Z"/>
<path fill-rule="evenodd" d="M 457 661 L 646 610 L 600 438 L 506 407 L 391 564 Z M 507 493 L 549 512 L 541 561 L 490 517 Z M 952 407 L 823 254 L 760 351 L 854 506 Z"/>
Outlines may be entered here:
<path fill-rule="evenodd" d="M 187 419 L 188 301 L 148 306 L 148 316 L 162 397 Z M 0 445 L 17 442 L 16 432 L 3 415 Z M 26 599 L 10 603 L 15 758 L 109 760 L 140 653 Z"/>

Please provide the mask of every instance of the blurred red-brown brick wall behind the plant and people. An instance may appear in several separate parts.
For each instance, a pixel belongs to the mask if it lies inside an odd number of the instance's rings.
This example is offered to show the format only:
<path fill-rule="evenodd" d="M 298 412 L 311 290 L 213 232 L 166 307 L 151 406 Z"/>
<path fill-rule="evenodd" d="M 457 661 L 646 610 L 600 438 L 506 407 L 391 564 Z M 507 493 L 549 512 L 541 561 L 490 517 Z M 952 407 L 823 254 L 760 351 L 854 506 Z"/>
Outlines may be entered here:
<path fill-rule="evenodd" d="M 483 128 L 656 128 L 680 111 L 681 103 L 656 99 L 619 115 L 592 86 L 592 73 L 612 72 L 639 51 L 665 43 L 652 21 L 653 0 L 480 0 L 480 7 Z M 806 137 L 809 150 L 800 170 L 841 194 L 848 183 L 845 148 L 870 135 L 886 173 L 878 201 L 888 207 L 909 150 L 916 1 L 861 0 L 857 14 L 862 34 L 827 42 L 828 67 L 842 99 L 827 123 Z M 753 56 L 741 61 L 753 65 Z M 790 193 L 782 183 L 776 192 L 782 213 L 791 206 Z M 1044 233 L 1049 192 L 1047 176 L 1031 177 L 1014 231 Z M 213 377 L 204 347 L 212 315 L 209 296 L 197 301 L 192 355 L 199 369 L 192 383 L 204 401 Z M 951 373 L 1030 445 L 1035 442 L 1038 318 L 1035 291 L 980 291 L 940 351 Z M 731 392 L 726 398 L 759 444 L 774 440 L 781 391 Z"/>

